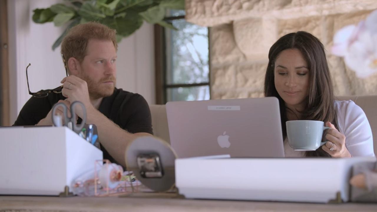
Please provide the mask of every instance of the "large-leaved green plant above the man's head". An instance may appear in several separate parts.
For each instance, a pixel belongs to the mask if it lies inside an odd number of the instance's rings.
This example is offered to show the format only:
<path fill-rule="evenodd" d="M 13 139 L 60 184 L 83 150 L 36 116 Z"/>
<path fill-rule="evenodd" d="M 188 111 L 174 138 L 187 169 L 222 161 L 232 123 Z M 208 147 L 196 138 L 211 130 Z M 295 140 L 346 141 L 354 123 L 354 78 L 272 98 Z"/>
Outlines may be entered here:
<path fill-rule="evenodd" d="M 116 29 L 117 41 L 131 35 L 143 25 L 151 24 L 172 28 L 165 22 L 166 9 L 184 9 L 184 0 L 66 0 L 66 4 L 55 4 L 46 9 L 35 9 L 35 23 L 54 22 L 62 26 L 70 22 L 63 34 L 52 45 L 57 48 L 67 31 L 79 23 L 96 21 Z"/>

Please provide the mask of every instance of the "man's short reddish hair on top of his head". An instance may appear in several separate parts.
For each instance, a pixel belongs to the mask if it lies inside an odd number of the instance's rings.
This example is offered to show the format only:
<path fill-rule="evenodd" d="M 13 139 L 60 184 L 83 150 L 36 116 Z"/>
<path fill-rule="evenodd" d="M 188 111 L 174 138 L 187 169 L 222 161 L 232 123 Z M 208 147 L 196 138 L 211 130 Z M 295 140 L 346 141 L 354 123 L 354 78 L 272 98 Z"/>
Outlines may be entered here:
<path fill-rule="evenodd" d="M 86 47 L 90 39 L 111 40 L 114 44 L 115 51 L 118 49 L 116 43 L 116 30 L 97 23 L 88 22 L 72 27 L 61 42 L 61 54 L 63 54 L 65 64 L 69 58 L 74 57 L 80 63 L 83 62 L 86 55 Z"/>

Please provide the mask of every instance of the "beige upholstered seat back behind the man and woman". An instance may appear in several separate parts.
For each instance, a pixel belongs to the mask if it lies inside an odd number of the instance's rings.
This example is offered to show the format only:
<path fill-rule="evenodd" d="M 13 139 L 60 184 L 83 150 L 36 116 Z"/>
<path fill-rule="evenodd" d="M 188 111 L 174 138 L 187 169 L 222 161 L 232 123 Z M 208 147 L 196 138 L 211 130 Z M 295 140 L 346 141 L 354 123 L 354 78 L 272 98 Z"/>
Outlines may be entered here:
<path fill-rule="evenodd" d="M 352 100 L 366 114 L 372 128 L 374 154 L 377 155 L 377 95 L 375 96 L 342 96 L 338 100 Z M 149 106 L 152 113 L 153 133 L 170 143 L 165 105 L 152 104 Z"/>

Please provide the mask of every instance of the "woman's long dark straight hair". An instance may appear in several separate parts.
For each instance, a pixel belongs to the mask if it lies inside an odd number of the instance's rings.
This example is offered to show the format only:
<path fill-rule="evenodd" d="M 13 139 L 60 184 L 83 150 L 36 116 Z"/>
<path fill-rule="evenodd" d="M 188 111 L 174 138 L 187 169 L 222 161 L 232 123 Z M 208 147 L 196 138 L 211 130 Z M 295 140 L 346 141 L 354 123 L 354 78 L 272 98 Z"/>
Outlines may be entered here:
<path fill-rule="evenodd" d="M 298 49 L 307 61 L 310 83 L 307 105 L 304 111 L 300 111 L 302 120 L 330 121 L 337 127 L 337 112 L 334 106 L 333 82 L 327 65 L 325 49 L 318 38 L 308 32 L 295 32 L 284 35 L 271 46 L 268 53 L 268 66 L 264 81 L 264 95 L 277 97 L 280 104 L 280 116 L 282 122 L 283 140 L 287 138 L 285 122 L 287 107 L 284 100 L 277 93 L 274 83 L 275 61 L 280 52 L 285 49 Z M 316 151 L 308 151 L 306 157 L 330 157 L 320 147 Z"/>

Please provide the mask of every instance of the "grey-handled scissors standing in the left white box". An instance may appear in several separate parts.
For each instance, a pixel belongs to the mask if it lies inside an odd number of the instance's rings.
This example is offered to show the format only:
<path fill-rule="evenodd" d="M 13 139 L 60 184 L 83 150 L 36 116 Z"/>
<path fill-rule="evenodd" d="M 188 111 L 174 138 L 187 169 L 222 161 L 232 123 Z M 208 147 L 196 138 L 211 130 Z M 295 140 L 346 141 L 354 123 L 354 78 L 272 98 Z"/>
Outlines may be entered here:
<path fill-rule="evenodd" d="M 80 125 L 76 124 L 76 118 L 75 118 L 75 105 L 79 104 L 81 108 L 83 108 L 83 117 Z M 70 112 L 71 112 L 71 117 L 68 117 L 68 108 L 64 103 L 57 103 L 54 105 L 52 108 L 52 123 L 54 123 L 55 126 L 60 126 L 60 123 L 56 123 L 55 120 L 57 120 L 55 115 L 56 109 L 61 106 L 63 108 L 63 117 L 64 117 L 64 125 L 68 127 L 69 129 L 73 130 L 77 134 L 81 132 L 81 130 L 84 128 L 85 122 L 86 122 L 86 109 L 83 103 L 81 101 L 74 101 L 74 103 L 71 104 L 70 106 Z"/>

